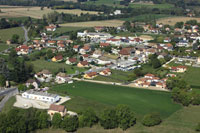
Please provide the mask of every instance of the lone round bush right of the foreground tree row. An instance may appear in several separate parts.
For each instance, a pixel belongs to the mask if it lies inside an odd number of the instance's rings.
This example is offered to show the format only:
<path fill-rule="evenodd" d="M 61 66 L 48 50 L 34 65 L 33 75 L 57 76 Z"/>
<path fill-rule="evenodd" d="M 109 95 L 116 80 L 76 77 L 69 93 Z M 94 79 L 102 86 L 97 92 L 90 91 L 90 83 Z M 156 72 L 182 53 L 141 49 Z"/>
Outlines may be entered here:
<path fill-rule="evenodd" d="M 159 125 L 161 122 L 162 122 L 162 120 L 160 118 L 159 113 L 147 114 L 144 116 L 144 118 L 142 120 L 142 124 L 144 126 L 148 126 L 148 127 Z"/>

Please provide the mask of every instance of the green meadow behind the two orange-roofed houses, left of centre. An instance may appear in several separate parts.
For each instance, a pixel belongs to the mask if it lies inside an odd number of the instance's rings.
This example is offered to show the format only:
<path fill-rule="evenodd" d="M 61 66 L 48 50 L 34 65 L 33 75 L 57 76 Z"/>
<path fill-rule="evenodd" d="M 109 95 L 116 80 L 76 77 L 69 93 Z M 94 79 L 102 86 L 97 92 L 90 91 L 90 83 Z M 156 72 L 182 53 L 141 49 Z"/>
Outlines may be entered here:
<path fill-rule="evenodd" d="M 79 70 L 79 72 L 83 72 L 86 70 L 84 68 L 78 68 L 76 66 L 66 65 L 65 63 L 48 62 L 45 60 L 36 60 L 36 61 L 31 61 L 30 63 L 33 64 L 35 72 L 39 72 L 42 69 L 48 69 L 52 73 L 55 73 L 60 68 L 65 68 L 68 74 L 73 74 L 75 73 L 76 70 Z"/>

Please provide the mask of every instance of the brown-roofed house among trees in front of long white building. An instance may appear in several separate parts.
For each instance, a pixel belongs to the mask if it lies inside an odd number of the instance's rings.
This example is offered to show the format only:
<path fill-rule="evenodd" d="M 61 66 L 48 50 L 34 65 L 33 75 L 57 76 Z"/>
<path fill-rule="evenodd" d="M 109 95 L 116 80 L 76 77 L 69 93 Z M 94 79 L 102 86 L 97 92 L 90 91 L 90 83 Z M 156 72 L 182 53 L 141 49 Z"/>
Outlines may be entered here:
<path fill-rule="evenodd" d="M 64 117 L 67 114 L 67 109 L 63 105 L 51 104 L 48 109 L 48 114 L 53 118 L 55 113 L 59 113 L 61 117 Z"/>

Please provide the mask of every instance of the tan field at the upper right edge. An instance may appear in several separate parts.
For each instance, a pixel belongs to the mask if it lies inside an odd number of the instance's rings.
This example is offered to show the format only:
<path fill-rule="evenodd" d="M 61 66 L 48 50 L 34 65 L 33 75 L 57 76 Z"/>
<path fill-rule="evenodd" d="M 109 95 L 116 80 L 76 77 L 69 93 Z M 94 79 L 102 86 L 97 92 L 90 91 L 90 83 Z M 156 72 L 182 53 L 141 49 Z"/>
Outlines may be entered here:
<path fill-rule="evenodd" d="M 200 22 L 200 18 L 194 18 L 194 17 L 168 17 L 157 20 L 157 23 L 175 25 L 177 22 L 181 21 L 186 22 L 188 20 L 197 20 L 198 22 Z"/>

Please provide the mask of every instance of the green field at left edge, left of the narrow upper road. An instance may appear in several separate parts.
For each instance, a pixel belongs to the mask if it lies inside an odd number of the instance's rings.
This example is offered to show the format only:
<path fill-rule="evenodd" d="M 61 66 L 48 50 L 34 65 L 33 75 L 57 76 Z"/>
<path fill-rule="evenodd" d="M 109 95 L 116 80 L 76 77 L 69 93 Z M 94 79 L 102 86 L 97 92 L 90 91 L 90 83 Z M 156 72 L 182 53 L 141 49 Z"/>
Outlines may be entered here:
<path fill-rule="evenodd" d="M 11 39 L 14 34 L 20 36 L 19 41 L 24 40 L 24 30 L 21 27 L 0 29 L 0 39 L 3 42 Z"/>

